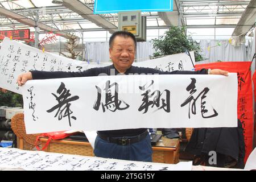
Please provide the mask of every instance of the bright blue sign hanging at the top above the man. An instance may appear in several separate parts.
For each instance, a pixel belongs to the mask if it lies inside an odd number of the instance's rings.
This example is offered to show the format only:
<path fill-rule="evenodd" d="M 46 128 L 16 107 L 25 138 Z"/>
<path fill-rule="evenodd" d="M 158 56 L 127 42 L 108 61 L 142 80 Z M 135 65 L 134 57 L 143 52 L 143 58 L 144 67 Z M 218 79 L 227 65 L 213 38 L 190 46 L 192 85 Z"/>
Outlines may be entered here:
<path fill-rule="evenodd" d="M 172 11 L 173 0 L 95 0 L 94 14 L 124 11 Z"/>

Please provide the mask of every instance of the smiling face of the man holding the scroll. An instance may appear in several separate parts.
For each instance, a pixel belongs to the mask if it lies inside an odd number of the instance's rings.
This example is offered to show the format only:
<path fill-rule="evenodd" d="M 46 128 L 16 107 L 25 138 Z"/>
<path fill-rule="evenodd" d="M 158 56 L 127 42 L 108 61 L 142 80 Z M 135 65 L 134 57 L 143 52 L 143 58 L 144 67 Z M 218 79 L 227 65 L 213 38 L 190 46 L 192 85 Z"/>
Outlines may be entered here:
<path fill-rule="evenodd" d="M 135 45 L 132 38 L 116 36 L 112 48 L 109 48 L 109 57 L 115 68 L 124 73 L 133 64 L 135 56 Z"/>

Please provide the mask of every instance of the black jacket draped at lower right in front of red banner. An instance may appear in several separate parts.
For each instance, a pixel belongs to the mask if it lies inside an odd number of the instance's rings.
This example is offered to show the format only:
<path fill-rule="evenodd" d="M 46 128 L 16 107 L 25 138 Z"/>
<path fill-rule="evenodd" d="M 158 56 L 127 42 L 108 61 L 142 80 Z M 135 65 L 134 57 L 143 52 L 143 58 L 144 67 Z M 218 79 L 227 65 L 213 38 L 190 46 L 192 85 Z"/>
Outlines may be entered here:
<path fill-rule="evenodd" d="M 237 167 L 243 168 L 245 143 L 240 120 L 238 120 L 238 127 L 194 129 L 185 151 L 193 155 L 208 155 L 210 151 L 216 151 L 218 154 L 236 159 Z"/>

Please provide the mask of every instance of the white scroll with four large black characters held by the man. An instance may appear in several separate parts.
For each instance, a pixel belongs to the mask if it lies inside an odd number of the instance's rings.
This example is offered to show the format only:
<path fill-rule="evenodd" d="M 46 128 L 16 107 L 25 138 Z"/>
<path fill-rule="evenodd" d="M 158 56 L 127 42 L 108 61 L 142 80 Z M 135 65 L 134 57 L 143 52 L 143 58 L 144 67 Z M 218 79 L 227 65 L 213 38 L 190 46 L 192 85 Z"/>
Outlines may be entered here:
<path fill-rule="evenodd" d="M 27 134 L 237 127 L 236 73 L 31 80 L 22 94 Z"/>

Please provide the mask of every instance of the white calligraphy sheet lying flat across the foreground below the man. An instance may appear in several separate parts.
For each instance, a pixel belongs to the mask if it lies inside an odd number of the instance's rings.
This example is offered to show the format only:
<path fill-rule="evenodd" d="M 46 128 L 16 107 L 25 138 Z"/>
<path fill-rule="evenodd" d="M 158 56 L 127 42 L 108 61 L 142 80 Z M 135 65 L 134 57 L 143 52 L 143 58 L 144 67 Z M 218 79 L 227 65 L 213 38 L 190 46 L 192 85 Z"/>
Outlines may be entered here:
<path fill-rule="evenodd" d="M 29 171 L 191 171 L 192 162 L 177 164 L 135 162 L 91 156 L 0 148 L 0 169 Z M 122 179 L 122 177 L 120 177 Z"/>

